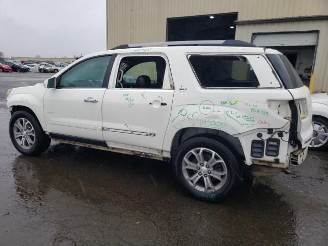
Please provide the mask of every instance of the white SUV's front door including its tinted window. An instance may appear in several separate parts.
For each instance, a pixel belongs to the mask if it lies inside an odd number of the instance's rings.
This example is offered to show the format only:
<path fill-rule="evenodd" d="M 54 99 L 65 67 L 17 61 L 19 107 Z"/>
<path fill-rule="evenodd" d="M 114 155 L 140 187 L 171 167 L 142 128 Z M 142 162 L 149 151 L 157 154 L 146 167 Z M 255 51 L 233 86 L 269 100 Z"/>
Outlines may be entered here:
<path fill-rule="evenodd" d="M 56 88 L 48 89 L 44 97 L 50 134 L 104 141 L 101 105 L 111 59 L 114 57 L 110 55 L 86 59 L 56 77 Z"/>

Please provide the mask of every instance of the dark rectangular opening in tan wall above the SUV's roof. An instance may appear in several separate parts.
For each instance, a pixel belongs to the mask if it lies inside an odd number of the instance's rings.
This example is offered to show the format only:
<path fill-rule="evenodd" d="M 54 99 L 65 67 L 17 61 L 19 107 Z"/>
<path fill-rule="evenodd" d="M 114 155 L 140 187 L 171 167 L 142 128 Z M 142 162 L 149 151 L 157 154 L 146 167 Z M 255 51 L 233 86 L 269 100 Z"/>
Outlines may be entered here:
<path fill-rule="evenodd" d="M 167 41 L 235 39 L 237 13 L 167 19 Z"/>

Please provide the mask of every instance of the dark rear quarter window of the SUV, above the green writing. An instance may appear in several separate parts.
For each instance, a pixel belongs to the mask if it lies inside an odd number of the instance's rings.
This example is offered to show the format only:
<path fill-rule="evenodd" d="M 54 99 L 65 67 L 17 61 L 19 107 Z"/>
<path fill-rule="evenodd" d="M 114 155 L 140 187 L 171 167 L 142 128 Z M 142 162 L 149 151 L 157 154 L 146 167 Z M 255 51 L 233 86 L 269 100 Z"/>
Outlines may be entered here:
<path fill-rule="evenodd" d="M 191 66 L 202 87 L 258 87 L 249 60 L 241 55 L 191 55 Z"/>

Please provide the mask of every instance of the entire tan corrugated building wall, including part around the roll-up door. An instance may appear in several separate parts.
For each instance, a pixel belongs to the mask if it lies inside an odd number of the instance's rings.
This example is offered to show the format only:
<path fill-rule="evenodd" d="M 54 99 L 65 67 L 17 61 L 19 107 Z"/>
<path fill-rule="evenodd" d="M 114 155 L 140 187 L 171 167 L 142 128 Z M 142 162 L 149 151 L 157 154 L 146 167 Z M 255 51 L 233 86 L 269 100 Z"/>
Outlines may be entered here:
<path fill-rule="evenodd" d="M 107 48 L 166 40 L 169 17 L 238 12 L 238 20 L 327 15 L 328 0 L 107 0 Z M 236 39 L 252 33 L 320 30 L 315 91 L 328 91 L 327 20 L 237 25 Z"/>

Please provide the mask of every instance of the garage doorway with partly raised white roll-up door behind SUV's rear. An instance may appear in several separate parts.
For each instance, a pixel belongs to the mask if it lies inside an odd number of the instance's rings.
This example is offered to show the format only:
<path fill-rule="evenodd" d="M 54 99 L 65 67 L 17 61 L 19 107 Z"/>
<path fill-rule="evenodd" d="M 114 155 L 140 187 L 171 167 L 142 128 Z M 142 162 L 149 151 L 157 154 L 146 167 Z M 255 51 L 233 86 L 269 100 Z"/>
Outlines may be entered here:
<path fill-rule="evenodd" d="M 306 86 L 314 69 L 318 32 L 253 33 L 252 43 L 284 54 Z"/>

